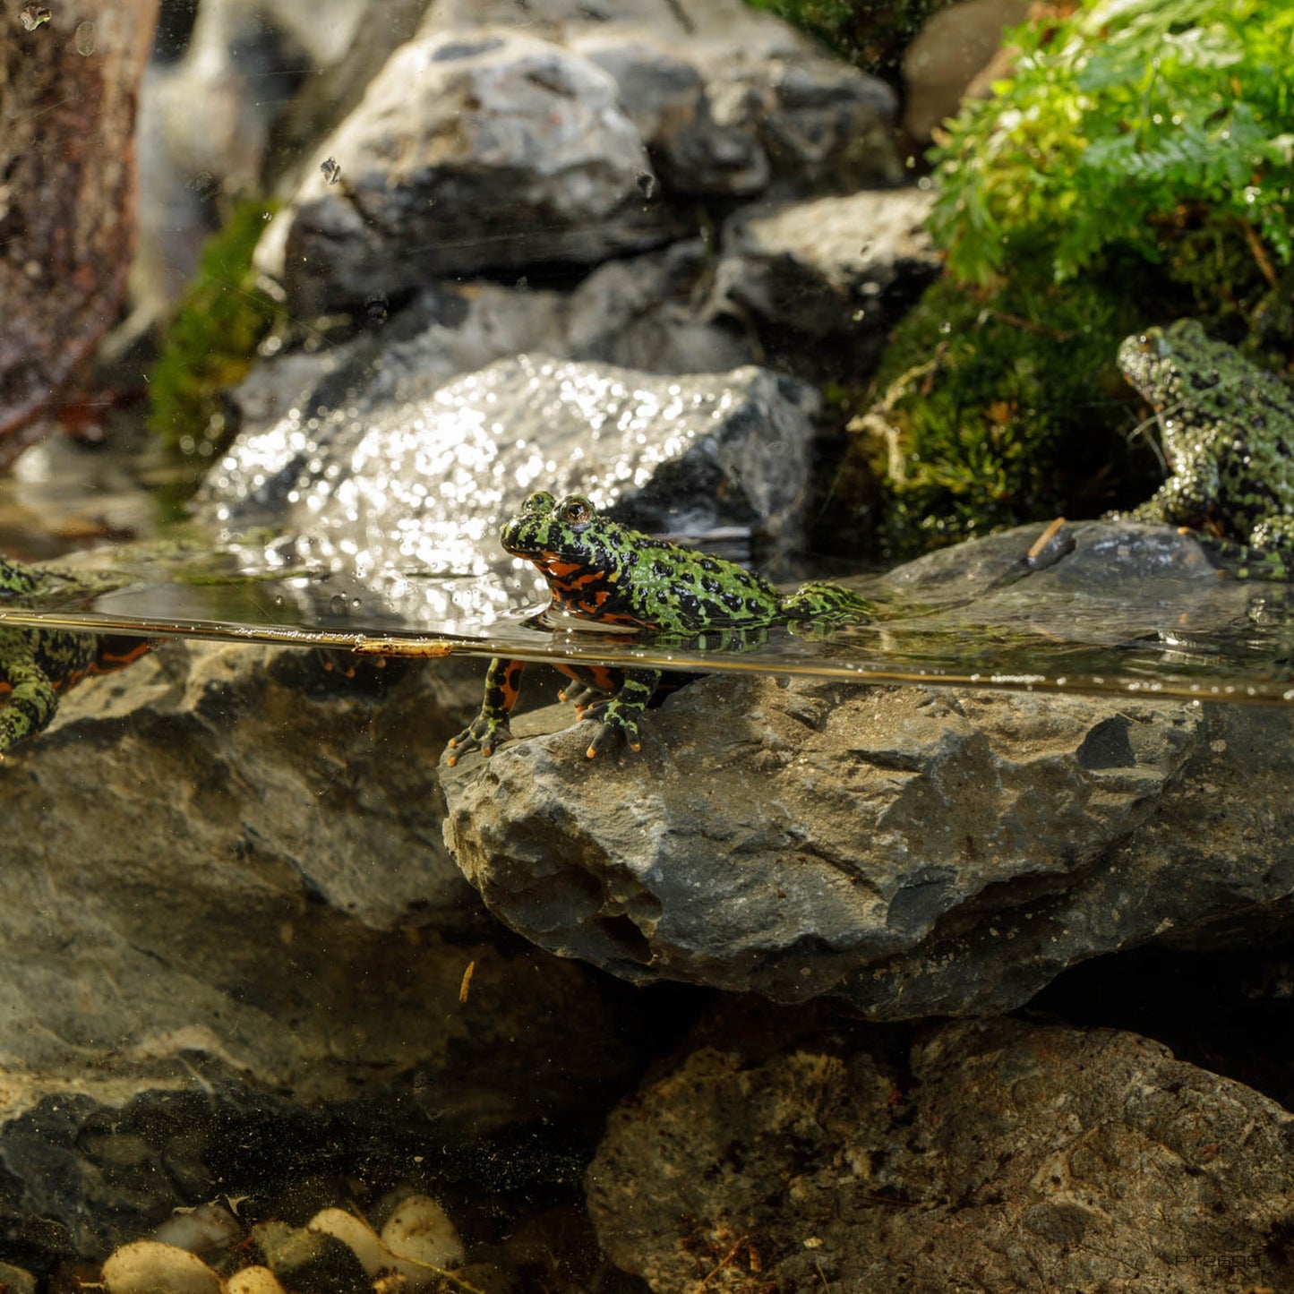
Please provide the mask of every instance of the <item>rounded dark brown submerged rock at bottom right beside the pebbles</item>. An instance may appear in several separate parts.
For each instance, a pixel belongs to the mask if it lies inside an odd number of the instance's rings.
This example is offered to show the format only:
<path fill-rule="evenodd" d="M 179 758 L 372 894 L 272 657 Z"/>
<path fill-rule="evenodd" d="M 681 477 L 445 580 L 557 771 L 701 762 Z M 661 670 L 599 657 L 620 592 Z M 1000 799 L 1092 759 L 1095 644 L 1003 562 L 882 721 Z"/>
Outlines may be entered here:
<path fill-rule="evenodd" d="M 718 1036 L 612 1115 L 589 1203 L 669 1294 L 1212 1294 L 1294 1280 L 1294 1115 L 1110 1030 Z"/>

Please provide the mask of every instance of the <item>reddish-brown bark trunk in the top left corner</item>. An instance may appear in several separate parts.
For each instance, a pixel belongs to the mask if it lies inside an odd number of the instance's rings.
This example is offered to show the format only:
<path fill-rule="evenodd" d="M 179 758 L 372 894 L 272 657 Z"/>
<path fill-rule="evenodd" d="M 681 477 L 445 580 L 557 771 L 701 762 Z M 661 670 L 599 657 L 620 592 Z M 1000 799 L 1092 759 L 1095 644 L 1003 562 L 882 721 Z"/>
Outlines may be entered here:
<path fill-rule="evenodd" d="M 47 4 L 49 19 L 31 30 L 17 4 L 0 10 L 0 468 L 116 318 L 158 10 L 158 0 Z"/>

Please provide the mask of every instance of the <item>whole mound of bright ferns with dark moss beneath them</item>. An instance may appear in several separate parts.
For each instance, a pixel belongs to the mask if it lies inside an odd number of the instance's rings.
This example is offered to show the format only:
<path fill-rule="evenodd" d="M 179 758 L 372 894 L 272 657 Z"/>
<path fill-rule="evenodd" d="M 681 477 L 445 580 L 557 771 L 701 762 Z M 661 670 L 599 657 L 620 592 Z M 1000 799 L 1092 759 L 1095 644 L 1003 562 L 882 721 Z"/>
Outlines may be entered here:
<path fill-rule="evenodd" d="M 1005 40 L 1011 78 L 932 154 L 946 276 L 853 424 L 892 558 L 1150 493 L 1114 365 L 1148 324 L 1288 349 L 1294 5 L 1080 0 Z"/>

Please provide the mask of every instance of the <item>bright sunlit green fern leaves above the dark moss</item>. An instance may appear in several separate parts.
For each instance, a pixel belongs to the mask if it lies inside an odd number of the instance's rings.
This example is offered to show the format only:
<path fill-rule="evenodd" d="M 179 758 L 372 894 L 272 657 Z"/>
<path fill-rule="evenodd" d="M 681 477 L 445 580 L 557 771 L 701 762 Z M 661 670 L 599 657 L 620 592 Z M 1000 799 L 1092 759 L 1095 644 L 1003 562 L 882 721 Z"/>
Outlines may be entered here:
<path fill-rule="evenodd" d="M 936 149 L 930 229 L 960 278 L 1070 278 L 1117 246 L 1229 229 L 1267 277 L 1294 254 L 1294 5 L 1084 0 L 1008 34 L 1013 75 Z M 1171 252 L 1167 252 L 1171 255 Z"/>

